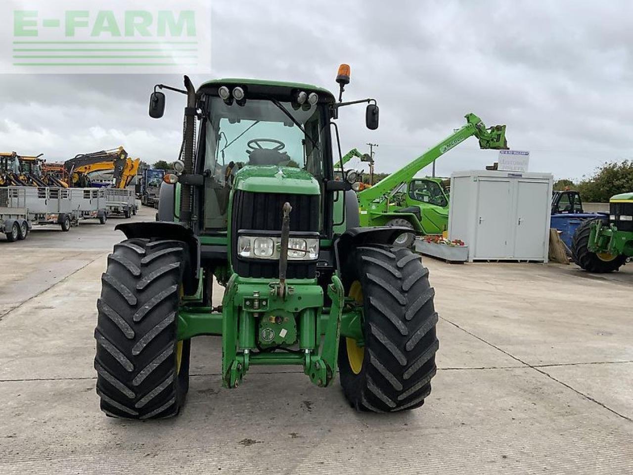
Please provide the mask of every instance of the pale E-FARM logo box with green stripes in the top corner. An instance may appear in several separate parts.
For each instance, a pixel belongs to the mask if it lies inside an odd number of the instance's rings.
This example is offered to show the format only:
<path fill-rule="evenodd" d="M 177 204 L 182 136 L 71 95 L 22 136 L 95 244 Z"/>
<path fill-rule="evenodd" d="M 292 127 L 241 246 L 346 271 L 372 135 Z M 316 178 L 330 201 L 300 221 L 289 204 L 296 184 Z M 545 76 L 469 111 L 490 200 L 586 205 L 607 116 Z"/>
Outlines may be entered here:
<path fill-rule="evenodd" d="M 3 0 L 11 24 L 0 30 L 0 72 L 210 73 L 210 2 L 174 5 Z"/>

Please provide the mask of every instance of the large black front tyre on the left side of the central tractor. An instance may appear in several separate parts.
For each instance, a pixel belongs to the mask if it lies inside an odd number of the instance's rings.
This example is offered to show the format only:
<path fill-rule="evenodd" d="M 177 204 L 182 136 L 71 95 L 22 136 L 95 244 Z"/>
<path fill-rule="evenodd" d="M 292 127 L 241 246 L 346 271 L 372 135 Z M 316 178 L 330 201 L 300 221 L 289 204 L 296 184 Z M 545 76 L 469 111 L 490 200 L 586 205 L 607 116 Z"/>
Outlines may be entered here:
<path fill-rule="evenodd" d="M 94 331 L 106 414 L 168 417 L 184 404 L 191 340 L 177 341 L 177 325 L 187 255 L 180 241 L 127 239 L 108 257 Z"/>

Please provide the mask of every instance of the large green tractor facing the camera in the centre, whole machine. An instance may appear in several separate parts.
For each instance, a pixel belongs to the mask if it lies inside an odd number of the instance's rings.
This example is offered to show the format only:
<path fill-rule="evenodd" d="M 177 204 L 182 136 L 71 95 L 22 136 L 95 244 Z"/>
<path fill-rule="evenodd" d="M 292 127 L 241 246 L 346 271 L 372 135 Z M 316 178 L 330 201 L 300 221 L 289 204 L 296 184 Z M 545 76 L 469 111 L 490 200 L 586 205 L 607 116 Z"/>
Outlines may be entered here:
<path fill-rule="evenodd" d="M 342 95 L 349 66 L 337 82 Z M 375 101 L 251 79 L 157 88 L 187 96 L 181 158 L 161 187 L 159 220 L 116 227 L 127 239 L 108 257 L 97 302 L 101 409 L 177 414 L 199 335 L 222 337 L 226 388 L 252 365 L 299 365 L 320 387 L 338 369 L 357 410 L 421 406 L 438 348 L 429 272 L 392 246 L 402 228 L 360 227 L 351 184 L 334 179 L 333 119 L 368 103 L 376 129 Z M 154 89 L 151 117 L 164 108 Z"/>

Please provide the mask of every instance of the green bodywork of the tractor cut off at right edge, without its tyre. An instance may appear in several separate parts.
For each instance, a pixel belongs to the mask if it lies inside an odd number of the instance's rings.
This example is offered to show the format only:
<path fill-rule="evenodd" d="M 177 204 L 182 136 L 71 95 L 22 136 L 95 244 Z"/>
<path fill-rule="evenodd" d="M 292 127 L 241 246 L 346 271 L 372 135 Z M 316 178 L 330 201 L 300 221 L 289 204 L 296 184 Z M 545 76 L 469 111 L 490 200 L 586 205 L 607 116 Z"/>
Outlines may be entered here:
<path fill-rule="evenodd" d="M 633 193 L 616 194 L 609 202 L 609 223 L 595 220 L 589 235 L 589 250 L 598 254 L 633 257 L 633 231 L 622 229 L 624 226 L 633 229 Z M 616 212 L 618 208 L 615 205 L 619 204 L 627 206 L 628 210 L 624 213 Z"/>

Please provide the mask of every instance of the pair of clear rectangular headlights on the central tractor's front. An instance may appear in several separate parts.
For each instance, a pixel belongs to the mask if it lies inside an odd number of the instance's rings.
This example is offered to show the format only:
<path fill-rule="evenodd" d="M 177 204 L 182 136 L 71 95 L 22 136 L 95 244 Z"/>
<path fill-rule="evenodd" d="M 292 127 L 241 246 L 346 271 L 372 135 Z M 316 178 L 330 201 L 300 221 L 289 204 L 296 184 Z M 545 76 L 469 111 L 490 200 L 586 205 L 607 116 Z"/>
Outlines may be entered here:
<path fill-rule="evenodd" d="M 237 255 L 251 259 L 279 259 L 281 255 L 279 236 L 240 236 L 237 239 Z M 288 260 L 318 259 L 318 238 L 288 239 Z"/>

